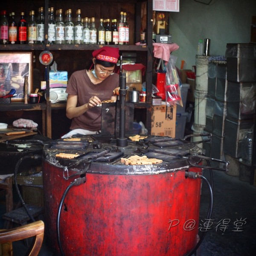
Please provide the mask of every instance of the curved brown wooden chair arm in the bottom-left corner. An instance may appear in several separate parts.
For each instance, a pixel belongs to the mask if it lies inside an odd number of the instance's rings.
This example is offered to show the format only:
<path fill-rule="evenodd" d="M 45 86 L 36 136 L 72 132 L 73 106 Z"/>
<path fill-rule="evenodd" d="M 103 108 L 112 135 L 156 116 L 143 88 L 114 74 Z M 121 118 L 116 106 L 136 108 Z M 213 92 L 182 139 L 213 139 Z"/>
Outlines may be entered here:
<path fill-rule="evenodd" d="M 0 231 L 0 244 L 19 241 L 22 239 L 27 239 L 29 237 L 33 237 L 33 240 L 26 253 L 26 256 L 37 256 L 44 239 L 43 221 L 35 221 L 21 227 Z"/>

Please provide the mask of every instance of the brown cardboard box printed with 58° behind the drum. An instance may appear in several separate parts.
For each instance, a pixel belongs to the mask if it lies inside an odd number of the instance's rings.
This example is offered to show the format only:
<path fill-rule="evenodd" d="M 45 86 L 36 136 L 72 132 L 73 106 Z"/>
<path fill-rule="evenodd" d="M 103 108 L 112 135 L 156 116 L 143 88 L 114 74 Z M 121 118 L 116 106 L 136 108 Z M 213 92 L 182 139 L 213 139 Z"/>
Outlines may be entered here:
<path fill-rule="evenodd" d="M 175 138 L 176 105 L 152 106 L 151 135 Z"/>

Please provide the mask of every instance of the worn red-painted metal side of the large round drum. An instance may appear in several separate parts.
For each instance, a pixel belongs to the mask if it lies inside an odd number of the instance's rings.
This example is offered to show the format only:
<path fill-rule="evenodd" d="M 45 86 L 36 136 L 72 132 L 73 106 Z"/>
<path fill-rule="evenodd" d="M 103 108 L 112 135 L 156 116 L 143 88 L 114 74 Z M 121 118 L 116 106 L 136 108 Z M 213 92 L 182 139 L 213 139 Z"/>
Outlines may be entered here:
<path fill-rule="evenodd" d="M 80 174 L 65 180 L 67 170 L 50 159 L 48 151 L 43 170 L 46 232 L 60 255 L 58 206 Z M 73 186 L 64 199 L 59 223 L 64 254 L 186 255 L 197 244 L 201 191 L 200 179 L 185 177 L 190 171 L 201 173 L 184 159 L 148 166 L 92 163 L 86 182 Z"/>

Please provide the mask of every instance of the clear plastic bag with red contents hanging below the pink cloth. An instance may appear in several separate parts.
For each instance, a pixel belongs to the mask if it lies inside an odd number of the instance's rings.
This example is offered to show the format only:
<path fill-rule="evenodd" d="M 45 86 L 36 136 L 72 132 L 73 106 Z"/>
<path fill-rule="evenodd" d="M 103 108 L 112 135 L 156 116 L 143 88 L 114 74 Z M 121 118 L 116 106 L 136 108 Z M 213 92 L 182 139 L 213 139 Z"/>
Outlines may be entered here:
<path fill-rule="evenodd" d="M 180 90 L 181 81 L 175 67 L 176 60 L 177 57 L 171 55 L 166 65 L 166 105 L 178 104 L 183 107 Z"/>

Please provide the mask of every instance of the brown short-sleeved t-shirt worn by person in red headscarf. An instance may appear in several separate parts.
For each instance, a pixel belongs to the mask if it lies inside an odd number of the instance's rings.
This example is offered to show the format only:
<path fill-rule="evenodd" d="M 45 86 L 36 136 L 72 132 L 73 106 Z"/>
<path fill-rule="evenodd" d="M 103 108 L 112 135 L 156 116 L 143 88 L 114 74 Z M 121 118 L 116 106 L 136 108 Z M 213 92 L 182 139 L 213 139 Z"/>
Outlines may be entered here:
<path fill-rule="evenodd" d="M 108 76 L 99 84 L 93 84 L 86 70 L 79 70 L 70 76 L 66 93 L 78 96 L 77 107 L 79 107 L 88 103 L 92 96 L 97 96 L 101 101 L 110 99 L 116 87 L 119 87 L 119 75 L 116 73 Z M 101 111 L 101 107 L 90 108 L 81 116 L 72 119 L 70 129 L 81 128 L 99 131 L 101 129 Z"/>

